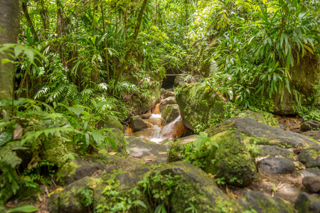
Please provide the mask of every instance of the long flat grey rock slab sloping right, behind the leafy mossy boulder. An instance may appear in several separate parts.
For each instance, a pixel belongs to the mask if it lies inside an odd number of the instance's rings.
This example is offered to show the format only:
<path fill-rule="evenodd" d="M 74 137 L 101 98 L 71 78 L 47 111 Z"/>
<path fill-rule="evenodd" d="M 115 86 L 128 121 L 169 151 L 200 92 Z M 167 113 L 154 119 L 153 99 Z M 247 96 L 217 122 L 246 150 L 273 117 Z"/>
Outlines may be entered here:
<path fill-rule="evenodd" d="M 209 136 L 213 136 L 216 133 L 220 133 L 228 129 L 237 129 L 241 133 L 245 133 L 247 136 L 255 137 L 257 144 L 280 146 L 282 148 L 310 146 L 316 144 L 316 142 L 299 133 L 284 131 L 273 126 L 257 122 L 251 118 L 233 117 L 223 121 L 221 124 L 213 126 L 206 132 Z"/>

